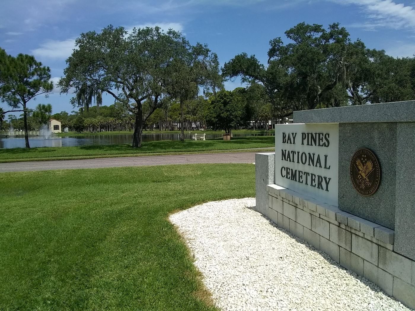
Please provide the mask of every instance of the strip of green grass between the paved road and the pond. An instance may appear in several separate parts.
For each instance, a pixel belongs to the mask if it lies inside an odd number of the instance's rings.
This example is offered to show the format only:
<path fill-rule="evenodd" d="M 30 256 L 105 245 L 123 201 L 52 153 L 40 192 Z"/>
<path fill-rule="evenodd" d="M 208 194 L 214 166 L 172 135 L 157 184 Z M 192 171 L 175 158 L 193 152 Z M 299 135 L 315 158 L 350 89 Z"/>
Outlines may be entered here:
<path fill-rule="evenodd" d="M 151 141 L 141 148 L 130 145 L 95 145 L 77 147 L 43 147 L 0 149 L 0 163 L 41 160 L 73 160 L 88 158 L 128 157 L 142 155 L 169 155 L 182 153 L 205 153 L 229 149 L 247 149 L 275 146 L 274 136 L 235 137 L 230 141 L 222 138 L 207 141 Z"/>

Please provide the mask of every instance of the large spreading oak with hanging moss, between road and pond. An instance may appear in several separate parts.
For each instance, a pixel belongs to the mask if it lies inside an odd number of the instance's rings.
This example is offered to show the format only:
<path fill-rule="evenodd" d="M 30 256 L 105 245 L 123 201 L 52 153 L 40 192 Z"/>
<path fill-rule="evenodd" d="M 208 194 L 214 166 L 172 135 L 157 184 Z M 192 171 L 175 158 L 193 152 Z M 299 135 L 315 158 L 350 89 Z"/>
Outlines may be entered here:
<path fill-rule="evenodd" d="M 180 100 L 183 134 L 184 101 L 197 97 L 199 85 L 207 80 L 212 88 L 221 86 L 215 53 L 202 44 L 191 46 L 180 32 L 159 27 L 127 33 L 110 25 L 101 33 L 81 34 L 66 63 L 61 92 L 74 88 L 72 103 L 87 111 L 93 97 L 100 101 L 101 92 L 124 104 L 135 118 L 133 147 L 141 146 L 144 124 L 164 96 Z"/>

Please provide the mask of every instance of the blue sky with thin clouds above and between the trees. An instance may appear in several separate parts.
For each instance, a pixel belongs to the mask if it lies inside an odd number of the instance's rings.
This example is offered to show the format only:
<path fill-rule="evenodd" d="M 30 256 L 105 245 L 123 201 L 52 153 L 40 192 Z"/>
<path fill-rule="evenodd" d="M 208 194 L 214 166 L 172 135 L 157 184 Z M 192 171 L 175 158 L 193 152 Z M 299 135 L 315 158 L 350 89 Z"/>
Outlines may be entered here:
<path fill-rule="evenodd" d="M 191 43 L 208 44 L 223 64 L 241 52 L 266 63 L 269 40 L 284 40 L 284 32 L 299 22 L 325 27 L 340 22 L 352 40 L 404 57 L 415 53 L 414 6 L 415 0 L 2 0 L 0 47 L 12 55 L 34 55 L 57 81 L 74 39 L 108 24 L 180 30 Z M 239 81 L 225 83 L 228 90 L 239 86 Z M 55 88 L 29 107 L 51 103 L 54 113 L 71 112 L 71 96 Z M 103 96 L 104 104 L 112 102 Z"/>

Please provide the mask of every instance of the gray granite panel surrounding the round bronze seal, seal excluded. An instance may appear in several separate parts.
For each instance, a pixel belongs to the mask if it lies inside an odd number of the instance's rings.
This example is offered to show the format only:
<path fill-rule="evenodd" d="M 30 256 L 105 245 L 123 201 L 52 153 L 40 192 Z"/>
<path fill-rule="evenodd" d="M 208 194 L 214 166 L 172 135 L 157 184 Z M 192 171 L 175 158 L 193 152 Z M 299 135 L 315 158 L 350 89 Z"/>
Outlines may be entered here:
<path fill-rule="evenodd" d="M 395 228 L 396 126 L 339 124 L 339 209 L 391 229 Z M 381 185 L 370 197 L 359 194 L 350 180 L 350 159 L 359 148 L 371 149 L 381 164 Z"/>

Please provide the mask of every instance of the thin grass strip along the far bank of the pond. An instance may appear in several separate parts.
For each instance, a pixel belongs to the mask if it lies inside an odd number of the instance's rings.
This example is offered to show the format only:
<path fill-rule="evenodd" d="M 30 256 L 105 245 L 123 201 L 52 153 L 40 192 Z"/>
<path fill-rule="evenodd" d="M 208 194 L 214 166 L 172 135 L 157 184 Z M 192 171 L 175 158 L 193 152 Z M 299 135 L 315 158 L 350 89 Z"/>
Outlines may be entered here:
<path fill-rule="evenodd" d="M 113 131 L 113 132 L 100 132 L 100 133 L 91 133 L 91 132 L 68 132 L 68 133 L 58 133 L 58 136 L 85 136 L 85 135 L 132 135 L 133 131 Z M 181 131 L 143 131 L 143 135 L 146 134 L 180 134 Z M 185 134 L 219 134 L 222 135 L 225 131 L 185 131 Z M 265 130 L 232 130 L 234 134 L 265 134 Z M 273 133 L 273 130 L 270 130 L 269 133 Z"/>

